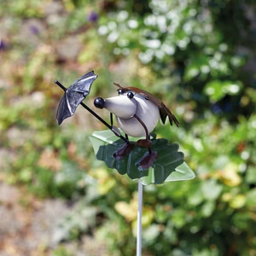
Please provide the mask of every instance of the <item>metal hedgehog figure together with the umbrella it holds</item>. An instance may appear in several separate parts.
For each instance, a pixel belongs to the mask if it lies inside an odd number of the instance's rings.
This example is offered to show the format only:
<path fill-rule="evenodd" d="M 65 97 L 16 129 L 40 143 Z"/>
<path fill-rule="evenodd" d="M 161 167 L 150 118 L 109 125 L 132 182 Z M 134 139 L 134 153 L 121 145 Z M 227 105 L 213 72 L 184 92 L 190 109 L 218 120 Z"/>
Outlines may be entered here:
<path fill-rule="evenodd" d="M 176 117 L 163 102 L 148 91 L 136 87 L 122 87 L 114 83 L 119 88 L 119 96 L 113 96 L 107 99 L 98 97 L 94 101 L 96 108 L 106 108 L 110 112 L 111 125 L 108 125 L 105 120 L 83 103 L 84 98 L 90 93 L 91 84 L 96 78 L 97 75 L 93 71 L 90 71 L 90 73 L 84 74 L 84 76 L 75 81 L 68 89 L 60 82 L 55 81 L 55 84 L 58 84 L 65 91 L 56 113 L 58 124 L 61 125 L 64 119 L 72 116 L 78 105 L 81 104 L 106 125 L 108 129 L 113 131 L 117 137 L 125 141 L 125 144 L 113 153 L 115 160 L 122 160 L 134 148 L 135 143 L 131 143 L 128 136 L 145 137 L 137 141 L 137 146 L 148 148 L 148 152 L 138 160 L 137 165 L 142 169 L 148 169 L 150 166 L 153 166 L 158 154 L 151 148 L 152 142 L 149 133 L 154 130 L 159 119 L 165 124 L 167 116 L 171 125 L 174 122 L 178 126 L 179 123 Z M 116 117 L 119 128 L 125 132 L 125 137 L 113 125 L 113 114 Z"/>

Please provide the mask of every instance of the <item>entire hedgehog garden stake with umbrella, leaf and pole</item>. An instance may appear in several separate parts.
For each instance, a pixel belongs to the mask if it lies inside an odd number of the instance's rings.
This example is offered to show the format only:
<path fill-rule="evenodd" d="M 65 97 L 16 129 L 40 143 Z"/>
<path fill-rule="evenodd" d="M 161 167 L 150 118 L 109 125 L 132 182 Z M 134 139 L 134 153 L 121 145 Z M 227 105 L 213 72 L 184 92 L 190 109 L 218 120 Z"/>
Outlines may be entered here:
<path fill-rule="evenodd" d="M 72 116 L 78 105 L 81 104 L 113 132 L 96 131 L 90 137 L 90 141 L 93 144 L 97 160 L 104 160 L 109 168 L 117 169 L 120 174 L 126 173 L 132 179 L 138 179 L 137 256 L 141 256 L 143 184 L 188 180 L 194 178 L 195 174 L 184 162 L 183 153 L 177 151 L 177 144 L 169 144 L 164 138 L 156 139 L 154 135 L 149 136 L 158 120 L 161 119 L 165 124 L 167 116 L 171 125 L 174 122 L 178 126 L 176 117 L 163 102 L 148 91 L 136 87 L 125 88 L 115 84 L 119 88 L 119 96 L 107 99 L 98 97 L 94 101 L 96 108 L 106 108 L 110 112 L 111 124 L 109 125 L 83 102 L 84 98 L 89 95 L 90 86 L 96 78 L 97 75 L 91 71 L 75 81 L 68 89 L 60 82 L 55 81 L 55 84 L 65 91 L 57 109 L 56 119 L 61 125 L 62 121 Z M 113 125 L 113 114 L 119 128 L 125 132 L 125 137 Z M 113 142 L 113 134 L 122 139 L 125 144 L 120 144 L 120 141 Z M 144 138 L 133 143 L 128 136 Z M 152 146 L 155 151 L 152 150 Z M 143 155 L 139 148 L 146 148 L 148 151 Z M 126 157 L 127 155 L 129 157 Z M 137 160 L 138 158 L 140 159 Z M 144 169 L 146 172 L 143 171 Z"/>

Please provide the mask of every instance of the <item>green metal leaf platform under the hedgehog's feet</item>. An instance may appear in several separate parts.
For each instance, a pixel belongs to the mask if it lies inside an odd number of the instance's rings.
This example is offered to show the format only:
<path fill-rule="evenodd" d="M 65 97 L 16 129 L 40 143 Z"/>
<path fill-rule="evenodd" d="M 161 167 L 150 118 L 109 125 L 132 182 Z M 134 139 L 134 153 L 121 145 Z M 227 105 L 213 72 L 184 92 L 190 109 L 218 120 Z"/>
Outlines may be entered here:
<path fill-rule="evenodd" d="M 131 154 L 123 160 L 115 160 L 113 152 L 122 144 L 122 140 L 116 140 L 112 131 L 96 131 L 90 137 L 97 160 L 105 161 L 108 168 L 116 169 L 119 174 L 127 174 L 131 179 L 141 178 L 143 185 L 150 183 L 160 184 L 177 180 L 188 180 L 195 177 L 194 172 L 183 160 L 183 153 L 178 152 L 178 144 L 168 144 L 166 139 L 156 139 L 152 135 L 152 149 L 158 153 L 154 166 L 148 170 L 141 170 L 137 166 L 138 160 L 147 152 L 145 148 L 137 145 Z"/>

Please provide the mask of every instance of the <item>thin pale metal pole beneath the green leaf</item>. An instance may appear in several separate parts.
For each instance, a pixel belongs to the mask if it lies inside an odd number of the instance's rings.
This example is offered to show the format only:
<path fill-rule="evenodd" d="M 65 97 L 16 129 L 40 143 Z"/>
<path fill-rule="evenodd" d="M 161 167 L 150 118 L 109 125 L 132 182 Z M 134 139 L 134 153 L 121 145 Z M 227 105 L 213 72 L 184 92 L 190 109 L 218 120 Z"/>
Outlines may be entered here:
<path fill-rule="evenodd" d="M 137 182 L 138 192 L 138 206 L 137 206 L 137 256 L 142 255 L 142 216 L 143 216 L 143 183 L 138 180 Z"/>

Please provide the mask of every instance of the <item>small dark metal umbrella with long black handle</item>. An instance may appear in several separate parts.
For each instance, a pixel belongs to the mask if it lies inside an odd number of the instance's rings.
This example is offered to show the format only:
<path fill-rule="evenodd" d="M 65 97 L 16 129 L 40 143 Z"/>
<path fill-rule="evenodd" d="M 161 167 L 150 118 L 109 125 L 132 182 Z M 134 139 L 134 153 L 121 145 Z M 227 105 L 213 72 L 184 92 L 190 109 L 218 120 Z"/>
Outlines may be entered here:
<path fill-rule="evenodd" d="M 108 127 L 108 129 L 113 131 L 115 135 L 124 140 L 125 143 L 128 143 L 129 141 L 122 135 L 118 134 L 112 125 L 108 125 L 105 120 L 103 120 L 93 110 L 87 107 L 83 102 L 85 97 L 89 95 L 90 86 L 96 78 L 97 75 L 93 71 L 90 71 L 89 73 L 85 73 L 84 76 L 76 80 L 72 85 L 70 85 L 68 89 L 59 81 L 55 80 L 55 84 L 58 84 L 61 89 L 65 91 L 56 113 L 56 119 L 58 120 L 58 124 L 61 125 L 64 119 L 73 116 L 73 113 L 75 113 L 77 107 L 79 106 L 79 104 L 81 104 L 86 110 L 93 114 L 96 119 L 99 119 L 104 125 Z"/>

